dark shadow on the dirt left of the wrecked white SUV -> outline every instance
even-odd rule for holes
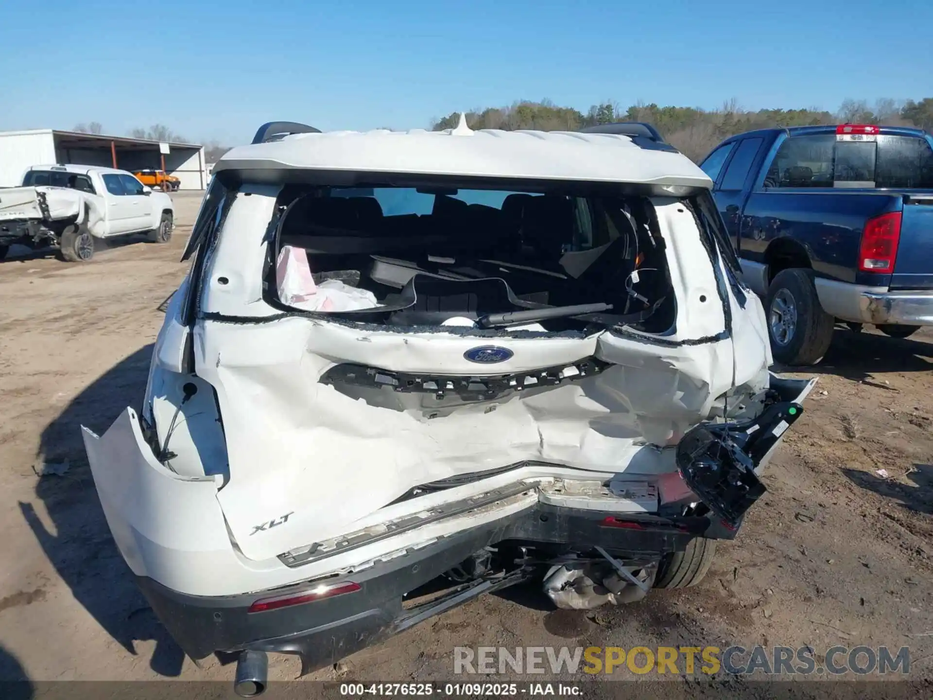
[[[35,495],[49,513],[49,529],[31,503],[20,508],[49,561],[78,603],[127,651],[135,640],[155,640],[150,667],[178,676],[184,653],[139,593],[129,567],[110,535],[94,490],[80,427],[102,434],[126,406],[138,408],[146,391],[152,344],[140,348],[97,378],[43,430],[39,457],[69,469],[39,478]]]

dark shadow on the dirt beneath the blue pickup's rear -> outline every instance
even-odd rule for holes
[[[813,374],[836,374],[853,382],[862,382],[895,391],[873,377],[881,372],[933,370],[933,343],[900,340],[886,335],[848,329],[836,329],[826,357],[813,367],[783,366],[782,371]]]

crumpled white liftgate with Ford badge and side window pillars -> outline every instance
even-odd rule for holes
[[[249,196],[246,196],[246,193]],[[205,315],[269,316],[261,296],[258,225],[274,189],[246,188],[231,205],[220,244],[205,265]],[[654,201],[675,285],[676,333],[634,331],[584,338],[490,336],[441,330],[398,332],[361,324],[286,317],[267,323],[196,324],[195,366],[216,389],[230,459],[218,499],[245,556],[264,559],[346,532],[360,518],[411,488],[524,461],[607,474],[675,469],[675,442],[709,417],[717,398],[767,385],[770,356],[760,302],[717,288],[696,224],[675,200]],[[237,215],[237,216],[234,216]],[[675,235],[676,231],[676,235]],[[215,280],[226,278],[227,284]],[[725,333],[725,295],[733,322]],[[747,336],[747,337],[746,337]],[[721,340],[717,340],[721,338]],[[694,343],[703,340],[702,343]],[[481,368],[466,351],[493,343],[512,356]],[[745,349],[736,357],[734,347]],[[502,400],[466,404],[432,417],[429,395],[391,389],[364,398],[319,382],[338,362],[388,371],[508,374],[596,357],[598,376]],[[414,398],[413,398],[414,397]],[[403,399],[408,399],[403,400]],[[326,507],[322,507],[327,504]],[[292,513],[285,525],[254,532]]]

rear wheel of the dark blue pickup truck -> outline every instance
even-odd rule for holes
[[[835,319],[823,311],[810,270],[782,270],[765,300],[771,350],[784,365],[815,365],[826,355]]]

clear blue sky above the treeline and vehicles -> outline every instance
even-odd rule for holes
[[[248,141],[517,99],[714,108],[933,96],[933,2],[0,0],[0,130]]]

